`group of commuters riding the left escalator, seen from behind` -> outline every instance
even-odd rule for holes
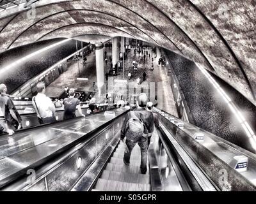
[[[68,94],[64,99],[55,98],[52,101],[51,98],[45,95],[44,82],[38,82],[36,84],[37,94],[32,98],[32,105],[40,124],[56,122],[56,108],[63,107],[64,120],[76,118],[76,110],[79,116],[85,116],[82,112],[79,98],[75,98],[75,89],[65,87],[65,91]],[[0,120],[0,134],[8,133],[8,135],[13,135],[17,129],[22,128],[22,119],[11,96],[6,94],[6,92],[6,85],[0,84],[0,115],[4,117],[4,120]],[[88,103],[87,114],[99,111],[99,107],[95,104],[95,98],[91,98]]]

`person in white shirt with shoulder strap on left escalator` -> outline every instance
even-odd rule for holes
[[[44,82],[36,84],[36,91],[38,94],[33,97],[32,103],[40,124],[55,122],[55,106],[52,100],[45,96]]]

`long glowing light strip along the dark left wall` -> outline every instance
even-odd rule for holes
[[[18,59],[17,61],[13,62],[12,64],[9,64],[8,66],[2,68],[2,69],[0,70],[0,74],[2,74],[4,71],[7,71],[7,70],[10,69],[10,68],[13,68],[13,66],[17,66],[17,65],[19,65],[20,63],[22,63],[22,62],[24,62],[24,61],[26,61],[26,60],[28,60],[28,59],[34,57],[35,55],[38,55],[38,54],[40,54],[40,53],[42,53],[42,52],[44,52],[44,51],[46,51],[46,50],[49,50],[49,49],[51,49],[51,48],[53,48],[53,47],[56,47],[56,46],[58,46],[58,45],[61,45],[62,43],[65,43],[65,42],[70,41],[70,40],[71,40],[71,38],[68,38],[68,39],[66,39],[66,40],[62,40],[62,41],[60,41],[60,42],[58,42],[58,43],[54,43],[54,44],[49,45],[49,46],[47,46],[47,47],[45,47],[45,48],[42,48],[42,49],[40,49],[40,50],[37,50],[36,52],[33,52],[33,53],[29,54],[29,55],[26,55],[25,57],[22,57],[22,58]]]

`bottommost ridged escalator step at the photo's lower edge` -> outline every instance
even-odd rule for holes
[[[98,190],[98,191],[150,191],[150,184],[134,184],[134,183],[127,183],[127,182],[118,182],[116,180],[99,179],[97,181],[95,190]]]

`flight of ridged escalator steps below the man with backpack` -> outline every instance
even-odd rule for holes
[[[92,191],[150,191],[150,175],[140,172],[140,147],[132,150],[129,166],[123,161],[124,145],[116,148]]]

